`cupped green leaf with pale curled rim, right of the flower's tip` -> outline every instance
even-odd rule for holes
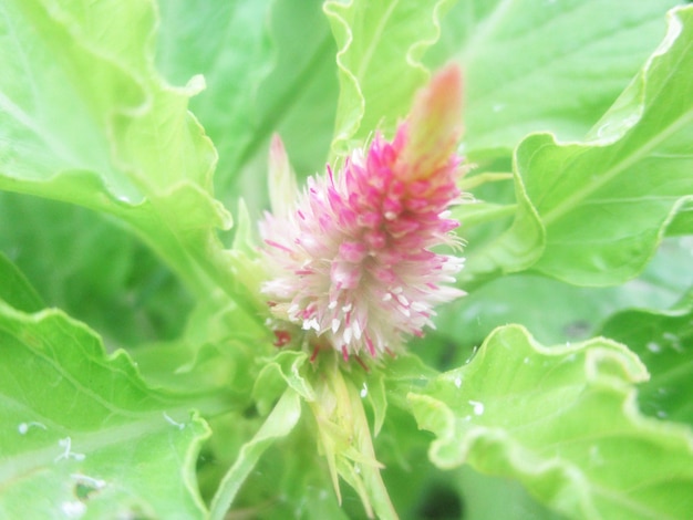
[[[693,198],[693,9],[669,32],[581,144],[526,138],[517,170],[546,227],[537,271],[576,284],[622,283],[642,271],[679,208]]]

